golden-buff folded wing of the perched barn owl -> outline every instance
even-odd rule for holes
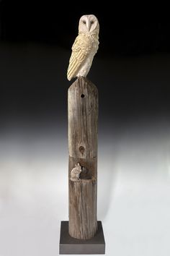
[[[79,67],[86,60],[91,51],[91,40],[85,35],[78,35],[72,46],[72,54],[68,65],[67,77],[70,81],[76,76]]]

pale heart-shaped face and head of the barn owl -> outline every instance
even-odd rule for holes
[[[79,33],[99,34],[99,22],[93,14],[83,15],[79,20]]]

